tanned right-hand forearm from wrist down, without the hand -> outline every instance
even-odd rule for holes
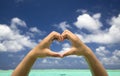
[[[108,76],[105,68],[99,62],[95,54],[91,51],[91,49],[87,48],[87,54],[84,56],[93,76]]]

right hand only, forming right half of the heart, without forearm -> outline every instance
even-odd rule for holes
[[[85,55],[88,51],[88,47],[71,31],[65,30],[62,33],[63,39],[70,40],[72,46],[69,51],[66,51],[62,54],[62,56],[68,56],[68,55]]]

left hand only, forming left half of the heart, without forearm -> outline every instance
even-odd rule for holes
[[[51,32],[47,37],[45,37],[33,50],[32,50],[32,56],[33,57],[61,57],[60,54],[53,52],[50,50],[50,44],[53,40],[61,41],[63,40],[62,36],[53,31]]]

